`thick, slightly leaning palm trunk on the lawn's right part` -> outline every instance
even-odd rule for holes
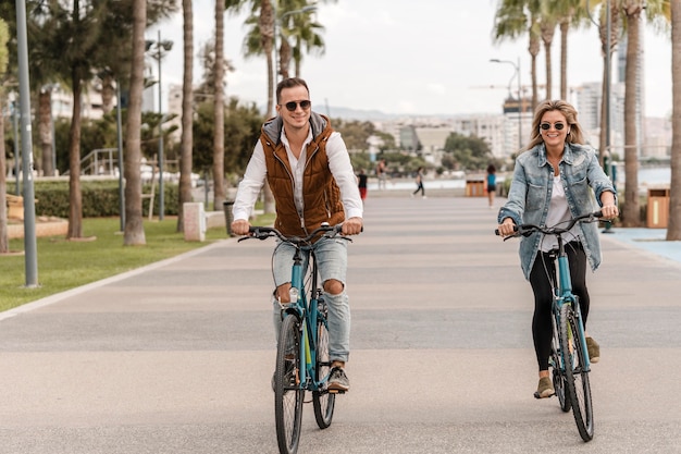
[[[141,212],[141,93],[145,86],[145,26],[147,0],[133,0],[133,59],[129,78],[129,101],[125,133],[125,230],[123,244],[147,244]]]

